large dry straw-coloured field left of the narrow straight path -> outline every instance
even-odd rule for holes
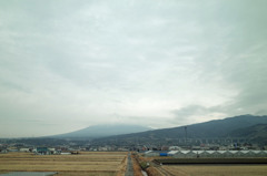
[[[85,152],[79,155],[0,154],[0,173],[58,172],[57,176],[120,176],[125,174],[127,153]]]

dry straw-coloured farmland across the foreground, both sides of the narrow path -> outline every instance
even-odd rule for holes
[[[129,159],[131,156],[131,159]],[[162,159],[162,157],[160,157]],[[157,165],[155,157],[123,152],[85,152],[79,155],[0,154],[0,174],[9,172],[58,172],[57,176],[265,176],[267,165]],[[127,169],[127,162],[128,169]],[[128,172],[126,172],[126,169]],[[130,172],[129,172],[130,170]]]

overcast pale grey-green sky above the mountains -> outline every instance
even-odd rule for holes
[[[267,114],[266,0],[0,0],[0,137]]]

